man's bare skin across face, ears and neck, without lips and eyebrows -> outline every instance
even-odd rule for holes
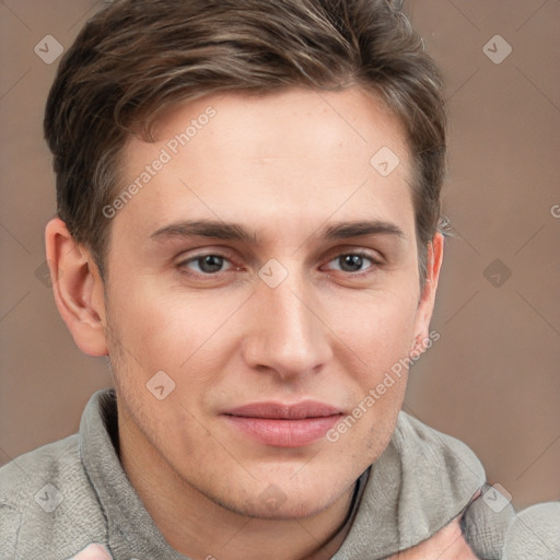
[[[120,459],[171,546],[194,559],[330,558],[355,480],[390,440],[406,373],[337,442],[265,445],[223,412],[314,399],[351,413],[428,338],[443,241],[421,291],[405,136],[357,88],[175,107],[154,143],[130,138],[121,187],[208,106],[215,116],[112,219],[104,281],[63,222],[48,224],[56,301],[77,345],[110,358]],[[387,177],[370,164],[382,147],[400,160]],[[185,220],[258,238],[154,235]],[[399,234],[324,236],[374,221]],[[349,270],[339,256],[357,253]],[[213,273],[194,258],[215,254]],[[288,271],[276,288],[258,276],[272,258]],[[162,370],[175,388],[159,400],[147,383]]]

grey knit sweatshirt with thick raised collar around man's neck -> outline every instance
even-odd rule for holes
[[[116,433],[115,393],[98,392],[79,433],[0,468],[0,560],[68,560],[92,542],[115,560],[188,560],[165,541],[130,485]],[[560,502],[515,513],[485,485],[483,468],[465,444],[405,412],[360,481],[350,532],[332,560],[387,558],[462,513],[479,558],[560,559]]]

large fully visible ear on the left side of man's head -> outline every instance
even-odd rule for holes
[[[107,355],[103,280],[91,254],[66,223],[54,218],[45,231],[55,301],[74,342],[90,355]]]

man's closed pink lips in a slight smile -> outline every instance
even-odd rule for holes
[[[305,400],[255,402],[223,413],[238,432],[273,447],[303,447],[320,440],[343,416],[340,409]]]

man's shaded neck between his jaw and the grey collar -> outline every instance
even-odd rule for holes
[[[350,528],[355,485],[300,518],[256,518],[226,510],[183,480],[119,415],[119,453],[132,487],[165,540],[194,560],[327,560]]]

